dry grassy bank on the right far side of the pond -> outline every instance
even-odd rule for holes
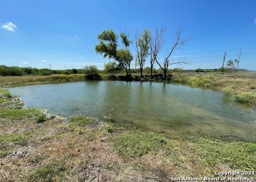
[[[220,90],[235,95],[237,102],[256,105],[256,76],[252,74],[175,73],[173,80]]]

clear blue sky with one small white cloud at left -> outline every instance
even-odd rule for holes
[[[94,51],[104,29],[134,34],[164,26],[166,55],[177,28],[191,38],[172,60],[188,60],[183,69],[219,68],[226,59],[238,59],[240,68],[256,70],[256,1],[0,1],[0,64],[70,69],[108,59]],[[131,46],[135,55],[135,45]],[[134,65],[133,65],[134,67]],[[157,67],[156,67],[157,68]],[[173,68],[173,67],[172,67]]]

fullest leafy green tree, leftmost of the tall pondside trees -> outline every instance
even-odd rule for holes
[[[125,69],[126,75],[131,75],[130,65],[133,56],[129,50],[129,46],[132,42],[124,32],[121,32],[120,37],[125,48],[117,49],[118,35],[113,30],[103,30],[98,35],[99,44],[95,46],[95,51],[103,54],[103,57],[114,59],[119,68]]]

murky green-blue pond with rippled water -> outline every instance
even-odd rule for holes
[[[256,140],[256,109],[228,94],[168,82],[84,81],[10,88],[28,107],[85,114],[175,137]]]

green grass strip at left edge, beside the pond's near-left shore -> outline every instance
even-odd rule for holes
[[[0,118],[3,119],[26,119],[34,117],[38,113],[38,109],[12,109],[10,107],[0,108]]]

